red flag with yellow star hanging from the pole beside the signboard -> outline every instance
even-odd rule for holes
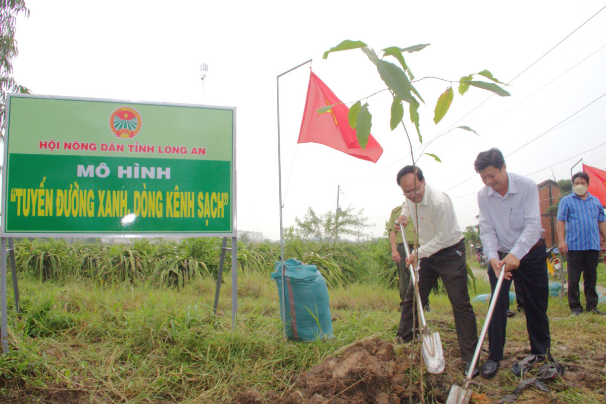
[[[320,114],[317,110],[324,106],[333,105],[330,111]],[[368,144],[362,149],[356,129],[352,129],[347,119],[349,108],[335,96],[330,88],[310,72],[309,86],[305,110],[299,131],[297,143],[320,143],[353,157],[376,163],[383,153],[383,148],[372,135],[368,136]]]

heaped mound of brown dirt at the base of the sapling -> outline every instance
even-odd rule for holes
[[[275,392],[238,394],[233,404],[401,404],[408,402],[408,354],[396,354],[394,345],[379,339],[358,342],[301,374],[297,389],[287,396]],[[439,380],[439,382],[438,382]],[[437,383],[436,383],[437,382]],[[442,375],[425,380],[444,400],[450,385]],[[448,384],[448,385],[447,385]],[[441,385],[436,388],[436,385]],[[415,386],[415,398],[418,386]],[[414,399],[413,399],[414,400]]]

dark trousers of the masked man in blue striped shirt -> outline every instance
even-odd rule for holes
[[[596,282],[598,281],[599,253],[598,250],[568,250],[566,255],[568,262],[568,306],[572,311],[583,311],[579,296],[581,273],[583,274],[587,310],[598,306]]]

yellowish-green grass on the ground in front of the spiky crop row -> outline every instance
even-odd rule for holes
[[[12,350],[0,357],[0,403],[227,403],[247,389],[288,391],[301,371],[340,348],[369,336],[391,340],[398,327],[396,289],[353,283],[330,290],[334,339],[289,342],[282,338],[275,283],[268,273],[244,272],[238,279],[238,322],[231,330],[228,276],[217,316],[211,314],[215,282],[209,278],[180,290],[21,279],[24,313],[18,319],[12,311],[8,319]],[[490,290],[487,282],[476,284],[472,298]],[[432,295],[431,307],[432,331],[453,336],[447,296]],[[487,308],[474,304],[478,329]],[[576,363],[587,358],[590,345],[601,371],[606,320],[591,314],[571,318],[567,302],[558,298],[550,299],[548,314],[554,356]],[[507,332],[505,351],[527,348],[523,316],[510,319]],[[445,351],[453,347],[456,342]],[[553,394],[561,402],[602,402],[604,374],[597,373],[601,384],[594,391],[581,383],[559,385]],[[460,383],[462,376],[456,376]],[[508,372],[499,374],[504,394],[518,382]],[[523,401],[529,394],[536,390],[522,394],[521,402],[531,402]]]

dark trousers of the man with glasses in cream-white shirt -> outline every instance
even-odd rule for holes
[[[421,301],[426,302],[429,292],[438,278],[442,279],[448,299],[453,307],[454,325],[457,341],[461,350],[461,359],[471,360],[478,343],[476,315],[469,302],[467,292],[467,264],[465,262],[465,244],[461,242],[453,247],[440,250],[427,258],[421,259],[419,269],[419,294]],[[405,341],[413,339],[413,299],[415,290],[412,282],[408,285],[406,298],[402,305],[398,334]]]

